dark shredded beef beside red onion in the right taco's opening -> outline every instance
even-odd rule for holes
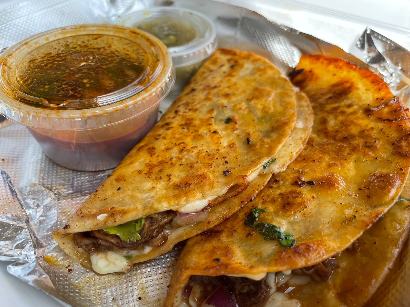
[[[190,282],[203,282],[223,286],[232,294],[239,307],[260,306],[269,294],[265,279],[252,280],[246,277],[192,275]]]

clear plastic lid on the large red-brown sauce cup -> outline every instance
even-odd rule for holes
[[[33,128],[115,124],[153,107],[174,82],[166,46],[116,25],[77,25],[21,41],[0,56],[0,112]]]

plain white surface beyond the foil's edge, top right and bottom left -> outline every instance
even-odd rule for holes
[[[253,9],[267,18],[292,26],[345,50],[369,25],[410,50],[410,1],[408,0],[220,0]],[[0,0],[0,9],[23,1]],[[371,5],[369,5],[371,3]],[[291,11],[291,13],[289,13]],[[321,18],[317,18],[321,14]],[[295,18],[296,17],[296,18]],[[295,22],[295,20],[297,20]],[[331,24],[329,33],[327,25]],[[335,31],[343,28],[344,31]],[[9,262],[0,262],[0,298],[4,307],[61,307],[43,291],[7,272]]]

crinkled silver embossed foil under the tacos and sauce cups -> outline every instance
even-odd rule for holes
[[[132,11],[154,5],[174,5],[209,16],[216,25],[221,47],[265,56],[284,74],[296,65],[301,54],[335,56],[375,71],[395,95],[409,102],[410,53],[371,29],[364,29],[356,48],[347,53],[241,7],[209,0],[175,2],[32,0],[0,11],[0,52],[27,36],[55,27],[115,23]],[[175,95],[166,98],[161,105],[162,111],[168,108]],[[11,124],[2,115],[0,167],[0,234],[3,238],[0,260],[14,262],[8,267],[11,274],[73,307],[162,304],[180,246],[133,266],[128,273],[98,275],[66,257],[51,237],[52,231],[64,225],[112,170],[77,172],[65,169],[42,153],[25,127]],[[401,275],[395,285],[400,289],[408,285],[410,263],[407,254],[404,250],[403,261],[397,264],[401,267]],[[389,306],[393,304],[389,302]]]

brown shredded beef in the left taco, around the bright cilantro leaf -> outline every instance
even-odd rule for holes
[[[157,217],[147,217],[144,226],[139,231],[141,239],[123,241],[118,235],[110,235],[104,230],[91,230],[74,234],[75,244],[84,251],[93,254],[96,251],[122,251],[137,248],[141,244],[150,241],[156,246],[166,242],[168,234],[164,233],[164,226],[171,223],[177,215],[175,211],[168,210],[159,212]]]

